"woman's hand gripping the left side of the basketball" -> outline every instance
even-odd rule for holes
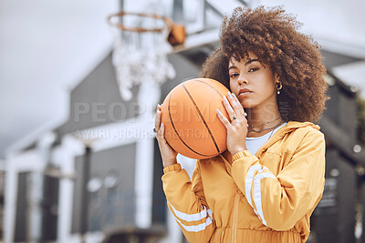
[[[162,106],[157,105],[156,118],[154,128],[156,130],[156,138],[159,143],[162,156],[163,167],[168,167],[177,163],[177,152],[166,142],[164,137],[164,126],[161,122]]]

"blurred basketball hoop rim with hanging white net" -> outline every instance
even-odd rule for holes
[[[170,18],[120,12],[110,15],[108,23],[114,35],[112,63],[124,100],[131,99],[133,85],[151,82],[161,86],[175,76],[167,59],[167,54],[172,51],[167,41],[173,24]]]

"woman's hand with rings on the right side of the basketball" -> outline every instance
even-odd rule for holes
[[[232,155],[235,155],[235,153],[247,149],[245,147],[247,120],[245,118],[245,109],[235,94],[228,92],[227,97],[224,96],[223,103],[230,121],[219,109],[217,109],[217,114],[224,124],[224,127],[227,129],[227,149]]]

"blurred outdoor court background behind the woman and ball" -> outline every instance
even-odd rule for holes
[[[0,1],[0,241],[186,242],[162,192],[154,111],[198,76],[239,5],[284,5],[318,41],[331,99],[308,242],[365,242],[363,0]],[[176,25],[107,21],[120,11]],[[193,172],[193,159],[178,161]]]

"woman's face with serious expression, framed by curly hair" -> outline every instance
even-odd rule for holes
[[[276,105],[276,79],[267,65],[260,63],[258,57],[247,52],[249,59],[234,58],[229,62],[229,79],[231,91],[245,108]],[[278,81],[278,80],[277,80]]]

